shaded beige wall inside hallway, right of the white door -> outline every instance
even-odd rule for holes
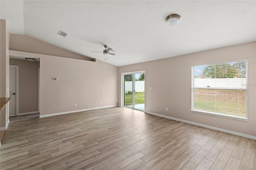
[[[10,59],[10,65],[19,66],[18,113],[38,111],[38,68],[40,62]]]

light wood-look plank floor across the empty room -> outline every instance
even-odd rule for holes
[[[124,107],[10,119],[0,169],[250,170],[256,141]]]

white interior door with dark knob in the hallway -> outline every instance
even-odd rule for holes
[[[16,89],[16,80],[17,80],[17,67],[10,66],[10,84],[9,84],[9,93],[10,93],[10,102],[9,102],[9,116],[16,116],[16,94],[17,94],[17,89]]]

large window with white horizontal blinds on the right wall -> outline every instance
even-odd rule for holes
[[[247,61],[192,66],[192,111],[247,120]]]

